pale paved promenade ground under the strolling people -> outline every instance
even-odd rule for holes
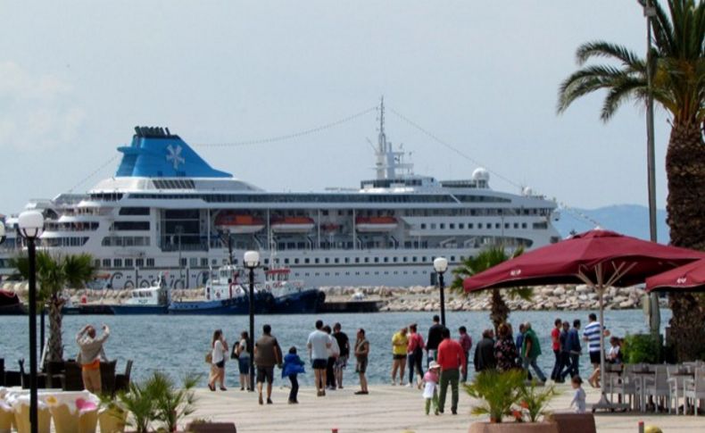
[[[284,383],[278,379],[277,385]],[[288,383],[288,381],[286,382]],[[369,396],[354,396],[358,388],[352,382],[342,390],[328,391],[325,397],[316,397],[311,387],[299,391],[300,404],[287,404],[288,388],[275,387],[272,393],[274,404],[257,404],[256,394],[232,387],[226,392],[211,393],[208,389],[197,391],[197,411],[189,419],[209,421],[234,421],[237,431],[249,432],[307,432],[339,433],[352,432],[415,432],[442,433],[465,432],[473,421],[482,417],[469,414],[473,400],[460,390],[458,415],[450,412],[450,395],[445,413],[440,416],[426,415],[423,398],[416,388],[370,386]],[[572,389],[567,385],[557,388],[560,396],[552,400],[555,412],[569,412]],[[598,392],[585,388],[587,402],[596,402]],[[599,432],[636,432],[638,421],[659,426],[664,433],[705,431],[705,417],[654,415],[635,412],[598,413],[595,416]]]

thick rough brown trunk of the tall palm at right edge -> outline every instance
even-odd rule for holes
[[[666,171],[671,244],[705,250],[705,145],[698,123],[676,121]],[[668,304],[678,360],[693,361],[705,354],[705,297],[674,293],[668,296]]]

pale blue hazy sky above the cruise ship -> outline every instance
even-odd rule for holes
[[[387,137],[417,174],[469,179],[483,166],[502,191],[646,204],[643,106],[603,123],[595,94],[556,113],[577,46],[604,39],[641,55],[645,27],[627,0],[3,0],[0,213],[112,176],[136,125],[193,146],[242,143],[346,119],[380,96]],[[657,110],[659,208],[668,133]],[[195,150],[268,190],[322,191],[373,177],[368,140],[375,111],[294,139]]]

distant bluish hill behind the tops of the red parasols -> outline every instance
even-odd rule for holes
[[[638,204],[615,204],[598,209],[575,209],[575,212],[560,211],[560,221],[553,225],[560,232],[560,236],[567,237],[570,230],[582,233],[593,229],[593,224],[576,215],[582,213],[597,221],[602,229],[610,229],[619,233],[649,239],[649,208]],[[668,225],[666,225],[666,211],[659,209],[656,212],[656,233],[659,243],[668,244]]]

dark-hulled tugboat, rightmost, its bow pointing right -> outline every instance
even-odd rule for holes
[[[264,271],[264,290],[274,296],[271,312],[275,314],[306,314],[319,312],[326,302],[326,294],[315,287],[304,287],[301,280],[290,280],[289,268],[270,268]]]

